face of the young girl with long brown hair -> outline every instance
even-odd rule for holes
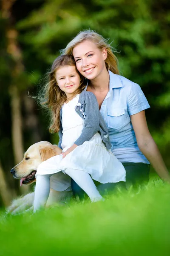
[[[55,72],[59,88],[65,92],[67,98],[74,95],[80,84],[80,77],[75,66],[63,66]]]

